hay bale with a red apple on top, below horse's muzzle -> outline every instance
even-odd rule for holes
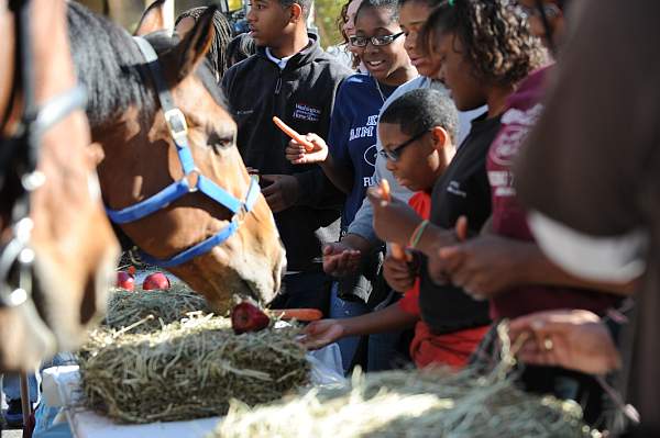
[[[308,382],[298,334],[237,336],[229,319],[201,313],[154,333],[101,328],[78,353],[85,403],[119,423],[152,423],[222,415],[231,398],[271,402]]]

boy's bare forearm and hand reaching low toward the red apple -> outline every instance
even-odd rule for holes
[[[321,319],[310,323],[301,342],[311,350],[322,348],[346,336],[372,335],[400,330],[415,325],[418,317],[404,312],[397,303],[381,311],[344,319]]]

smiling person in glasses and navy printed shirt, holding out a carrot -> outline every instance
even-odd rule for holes
[[[350,44],[360,50],[369,74],[353,75],[340,87],[327,143],[321,136],[309,133],[306,139],[315,145],[311,153],[295,141],[286,149],[286,157],[294,165],[318,162],[334,186],[346,194],[342,234],[362,205],[366,189],[373,183],[380,110],[398,86],[417,77],[417,70],[404,47],[398,0],[362,1],[355,14],[354,32],[350,36]],[[331,316],[350,316],[370,311],[363,302],[372,293],[376,268],[374,262],[355,276],[340,278],[332,293]],[[385,358],[389,356],[387,351],[393,350],[388,344],[395,344],[396,338],[398,336],[393,334],[393,341],[384,342],[377,353],[373,349],[374,339],[370,346],[369,370],[388,368]],[[355,338],[340,342],[345,367],[352,362],[356,347]]]

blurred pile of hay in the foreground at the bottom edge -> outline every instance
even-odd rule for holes
[[[251,408],[233,401],[215,437],[598,437],[574,402],[517,390],[505,359],[487,375],[474,370],[353,374],[339,389],[311,389]]]

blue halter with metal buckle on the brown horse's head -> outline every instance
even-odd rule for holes
[[[224,243],[230,238],[239,228],[239,225],[243,216],[252,210],[254,202],[256,201],[257,194],[260,193],[258,183],[255,178],[251,179],[245,201],[241,202],[234,198],[231,193],[227,192],[220,186],[216,184],[210,179],[206,178],[200,173],[199,169],[195,166],[193,153],[188,146],[188,126],[186,124],[186,117],[184,113],[176,108],[174,100],[167,83],[164,80],[164,76],[158,64],[158,56],[151,46],[151,44],[143,37],[135,36],[135,42],[142,52],[146,65],[152,72],[152,78],[156,86],[156,92],[161,102],[161,108],[165,113],[165,121],[169,128],[169,134],[174,138],[176,145],[176,153],[184,170],[184,177],[174,181],[158,193],[154,194],[141,201],[134,205],[127,206],[121,210],[111,210],[106,207],[108,217],[116,224],[127,224],[130,222],[139,221],[158,210],[167,207],[172,202],[178,200],[187,193],[199,191],[206,194],[208,198],[218,202],[232,212],[232,217],[226,227],[223,227],[218,234],[209,237],[208,239],[177,254],[168,259],[156,259],[144,251],[140,251],[142,260],[150,265],[155,265],[162,268],[170,268],[177,265],[185,263],[190,259],[206,254],[217,245]],[[197,177],[197,182],[191,186],[191,180]]]

